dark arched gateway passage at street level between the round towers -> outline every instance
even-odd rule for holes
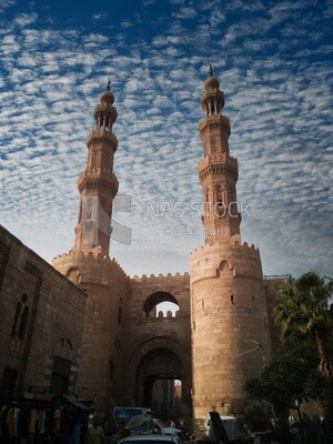
[[[151,350],[138,367],[138,397],[161,420],[186,416],[182,379],[183,366],[175,353],[164,347]]]

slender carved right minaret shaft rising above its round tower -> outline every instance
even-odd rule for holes
[[[205,119],[200,123],[204,159],[199,163],[199,178],[204,191],[203,225],[208,243],[222,239],[240,240],[241,214],[238,212],[235,183],[238,161],[229,154],[229,119],[222,115],[224,94],[211,75],[204,83],[201,104]]]

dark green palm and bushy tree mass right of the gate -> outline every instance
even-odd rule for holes
[[[287,415],[295,400],[321,400],[326,434],[333,442],[333,281],[314,272],[289,279],[274,309],[281,329],[279,359],[244,385],[251,398],[274,405],[283,442],[289,442]],[[280,424],[280,425],[279,425]]]

